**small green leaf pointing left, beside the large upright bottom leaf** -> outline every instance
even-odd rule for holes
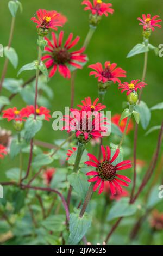
[[[41,225],[49,231],[62,232],[66,228],[65,215],[52,215],[41,221]]]

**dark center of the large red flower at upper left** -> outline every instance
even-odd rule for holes
[[[57,64],[65,64],[70,61],[70,53],[65,48],[57,48],[52,53],[53,59]]]

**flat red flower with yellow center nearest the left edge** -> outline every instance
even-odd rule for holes
[[[9,108],[7,110],[2,111],[3,118],[7,118],[8,121],[15,120],[15,121],[26,121],[24,117],[28,117],[28,111],[26,108],[22,108],[20,111],[17,110],[16,107],[14,108]]]

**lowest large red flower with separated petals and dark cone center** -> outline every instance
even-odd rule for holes
[[[85,164],[87,164],[88,166],[96,167],[96,171],[91,171],[86,174],[87,176],[95,175],[95,177],[89,179],[88,181],[89,182],[96,181],[96,184],[93,187],[93,191],[96,191],[99,185],[101,184],[98,194],[101,194],[103,192],[105,181],[109,182],[110,191],[112,195],[116,194],[116,191],[118,191],[119,193],[122,193],[122,188],[120,185],[127,187],[129,186],[129,184],[127,184],[124,181],[131,182],[131,180],[126,176],[117,174],[117,172],[119,170],[131,168],[131,161],[130,160],[122,161],[116,164],[116,166],[114,166],[114,164],[112,163],[115,161],[118,154],[120,153],[120,149],[117,149],[114,156],[112,157],[111,157],[111,150],[108,146],[106,146],[106,150],[103,146],[101,146],[101,150],[103,154],[103,161],[101,162],[97,160],[96,156],[90,153],[87,154],[90,158],[90,161],[85,162]],[[122,181],[121,179],[123,179],[124,181]]]

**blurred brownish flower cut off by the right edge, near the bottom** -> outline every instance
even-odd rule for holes
[[[154,210],[149,222],[151,227],[155,230],[163,230],[163,213],[158,210]]]

